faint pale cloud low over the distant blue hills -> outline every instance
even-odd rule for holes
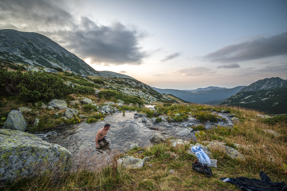
[[[185,67],[185,68],[179,68],[177,70],[174,70],[171,72],[171,74],[177,74],[181,76],[206,76],[206,75],[213,75],[216,71],[212,71],[210,68],[206,67]]]

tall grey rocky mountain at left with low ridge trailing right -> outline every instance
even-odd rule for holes
[[[13,61],[16,64],[60,67],[63,70],[88,76],[132,78],[115,72],[96,71],[50,38],[36,32],[0,30],[0,59]]]

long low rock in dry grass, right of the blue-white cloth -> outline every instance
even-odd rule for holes
[[[239,153],[237,150],[234,148],[231,148],[229,146],[225,146],[224,144],[220,144],[218,142],[211,142],[207,145],[207,148],[212,149],[212,150],[218,150],[226,155],[228,155],[232,159],[241,159],[243,160],[245,157]]]

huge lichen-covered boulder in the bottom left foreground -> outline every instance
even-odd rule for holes
[[[64,147],[16,130],[0,129],[0,180],[69,171],[72,154]]]

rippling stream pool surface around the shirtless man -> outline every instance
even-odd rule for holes
[[[67,148],[74,156],[83,155],[83,152],[86,153],[84,155],[91,156],[103,153],[106,155],[109,151],[122,152],[128,150],[133,143],[142,147],[147,146],[154,132],[144,127],[140,118],[134,119],[134,113],[126,112],[125,115],[114,113],[106,116],[104,121],[90,124],[83,122],[50,132],[38,132],[36,135],[45,141]],[[106,123],[111,125],[106,137],[110,144],[102,149],[96,149],[96,133]]]

